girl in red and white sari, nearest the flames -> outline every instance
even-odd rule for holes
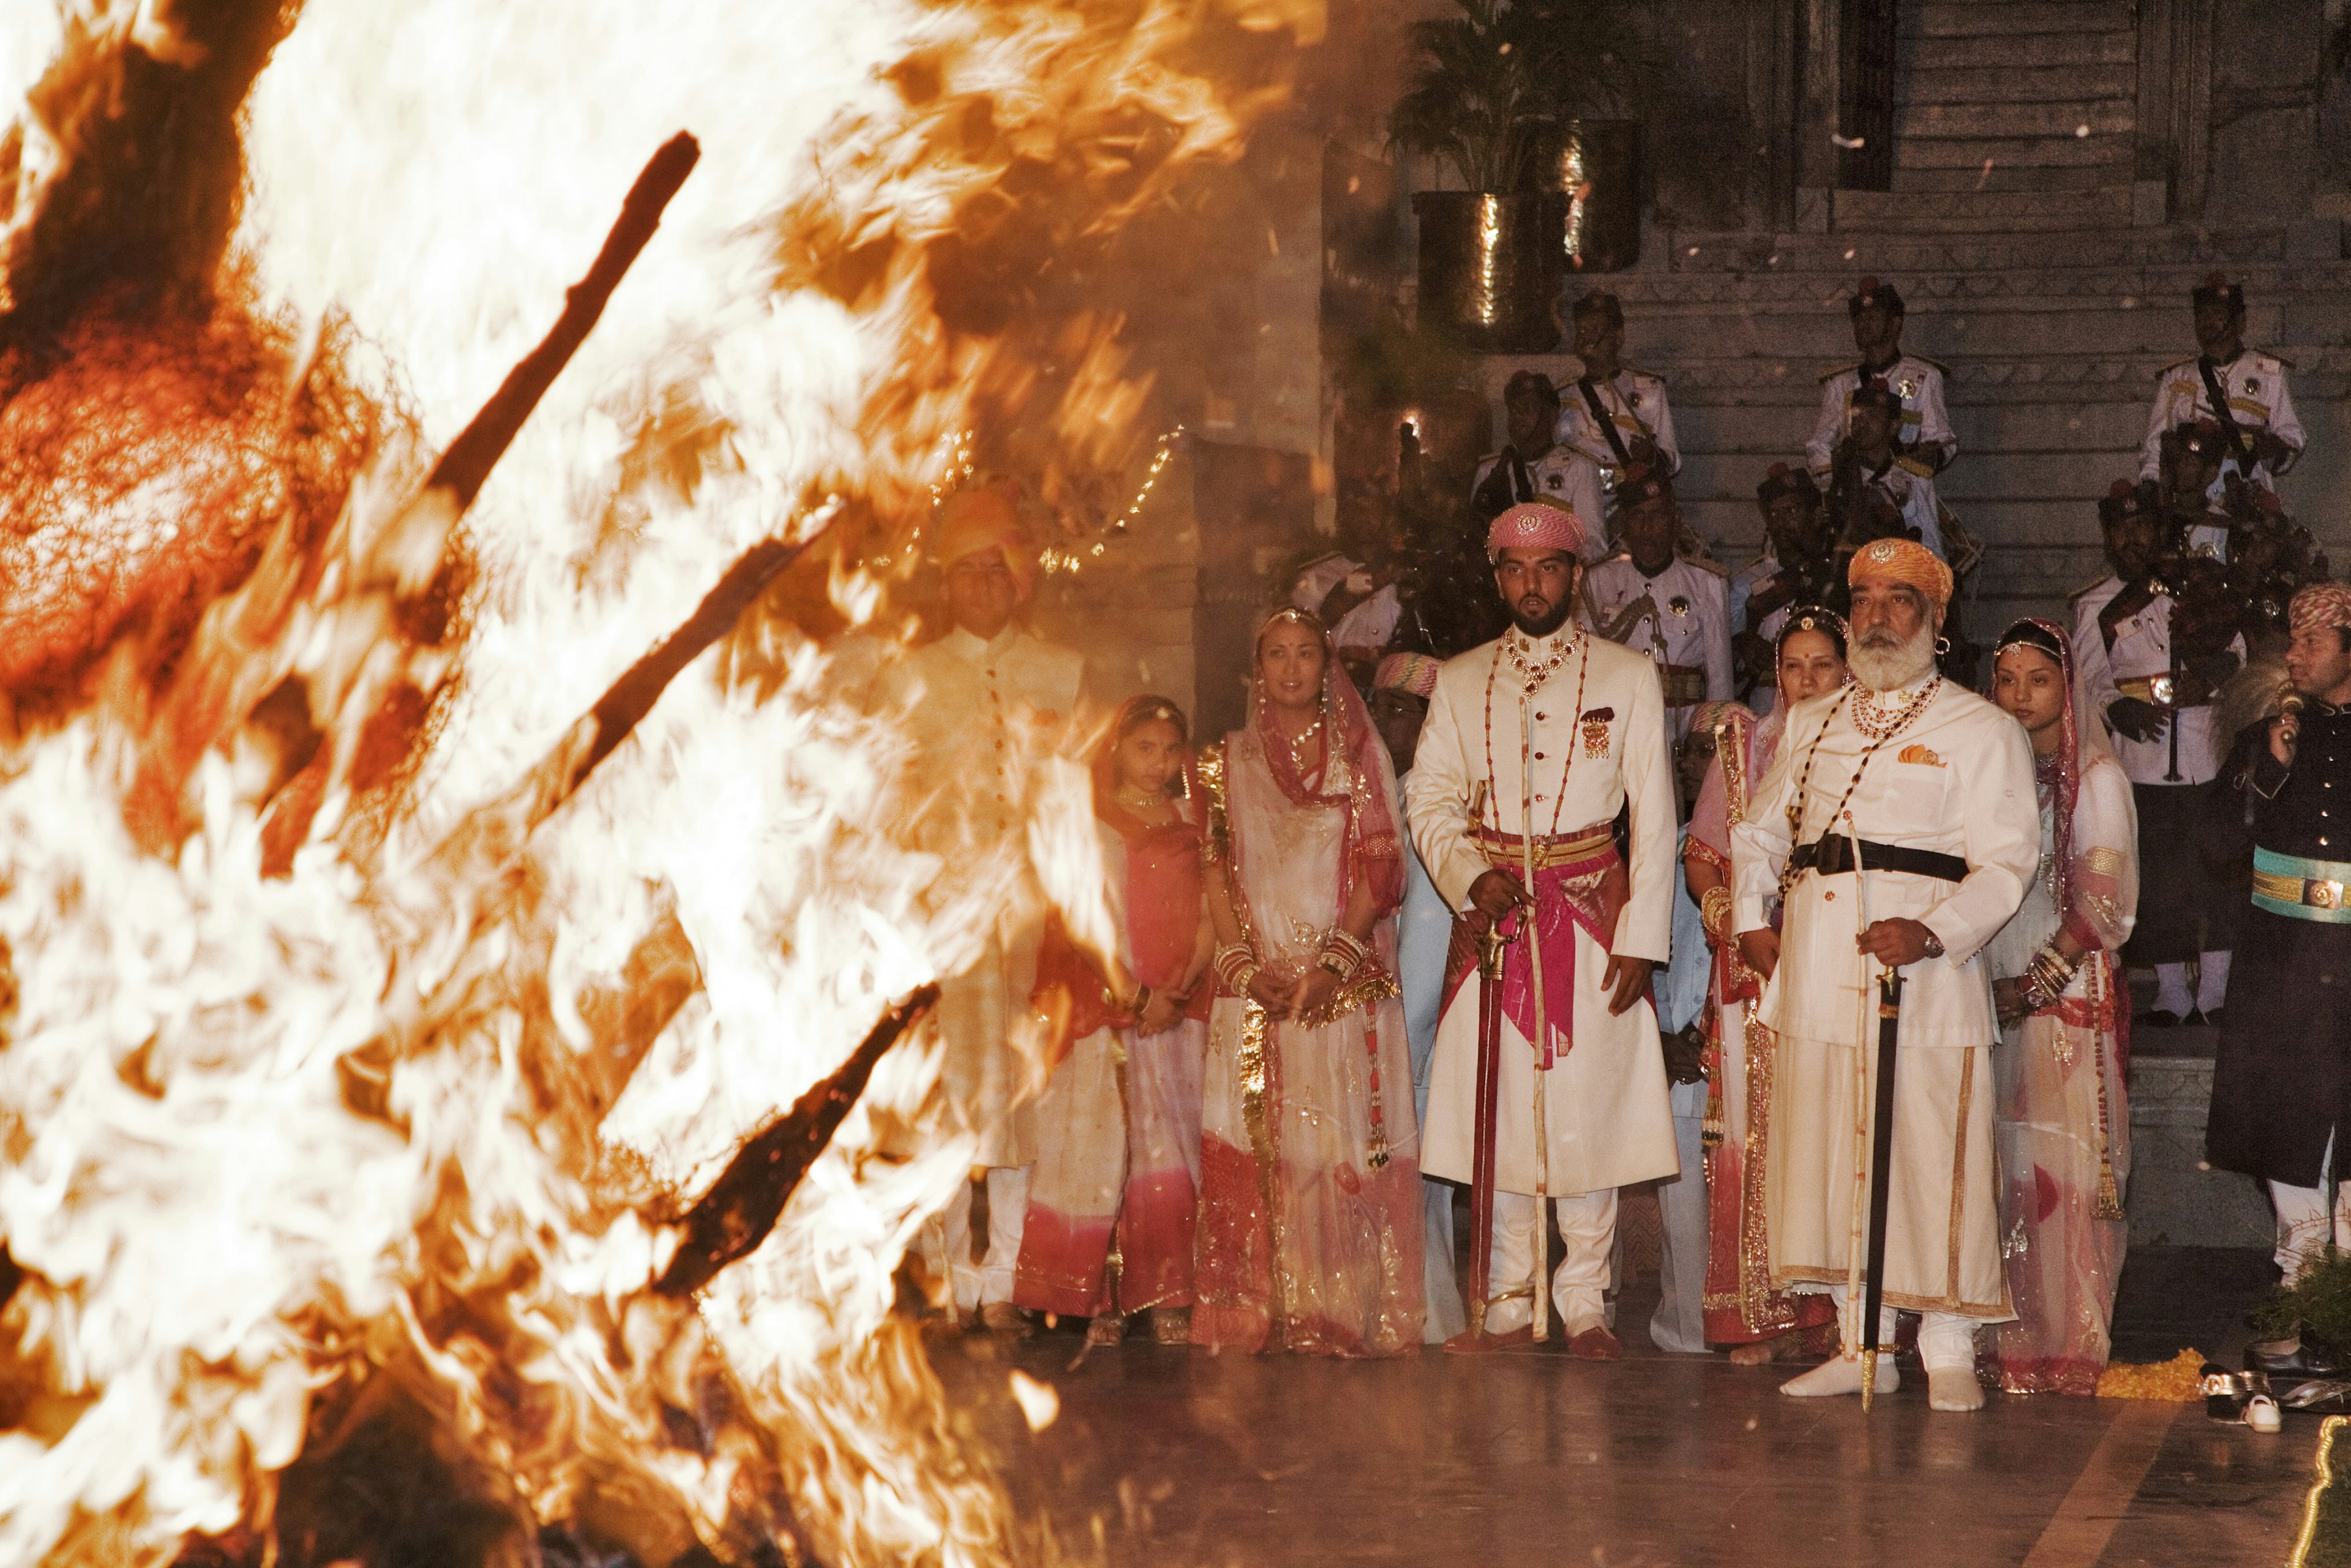
[[[1126,1314],[1183,1345],[1192,1307],[1199,1187],[1199,1074],[1206,1048],[1211,929],[1201,903],[1201,816],[1187,726],[1164,696],[1119,708],[1093,766],[1119,952],[1065,938],[1039,959],[1039,994],[1067,1009],[1037,1105],[1039,1152],[1013,1305],[1091,1319],[1089,1345],[1117,1345]]]

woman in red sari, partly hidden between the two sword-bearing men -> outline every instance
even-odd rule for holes
[[[1796,607],[1780,625],[1773,654],[1777,701],[1768,719],[1737,703],[1714,703],[1690,724],[1695,733],[1697,719],[1704,719],[1714,731],[1714,764],[1697,792],[1681,856],[1707,945],[1714,947],[1707,999],[1707,1345],[1730,1345],[1730,1359],[1742,1366],[1799,1349],[1801,1331],[1829,1326],[1834,1345],[1836,1324],[1827,1295],[1770,1288],[1763,1152],[1770,1140],[1773,1039],[1754,1018],[1761,980],[1740,959],[1740,945],[1723,940],[1723,924],[1730,917],[1730,827],[1747,816],[1749,792],[1780,755],[1787,710],[1846,684],[1846,623],[1834,611]]]

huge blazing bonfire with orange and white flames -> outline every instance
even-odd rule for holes
[[[858,1041],[980,922],[889,837],[820,632],[959,433],[1060,508],[1136,468],[1117,320],[1011,284],[1232,158],[1262,94],[1204,38],[1312,0],[245,7],[193,296],[35,282],[108,115],[219,45],[5,9],[0,1561],[1049,1554],[891,1312],[969,1143],[922,1034]],[[602,320],[451,477],[682,129]],[[682,1218],[844,1063],[717,1267],[757,1225]]]

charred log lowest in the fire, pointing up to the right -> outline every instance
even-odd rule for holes
[[[922,985],[849,1053],[839,1072],[813,1086],[783,1117],[745,1143],[684,1220],[686,1241],[654,1291],[694,1295],[719,1269],[748,1255],[776,1229],[785,1199],[832,1143],[849,1107],[865,1093],[875,1063],[938,1004],[938,985]]]

